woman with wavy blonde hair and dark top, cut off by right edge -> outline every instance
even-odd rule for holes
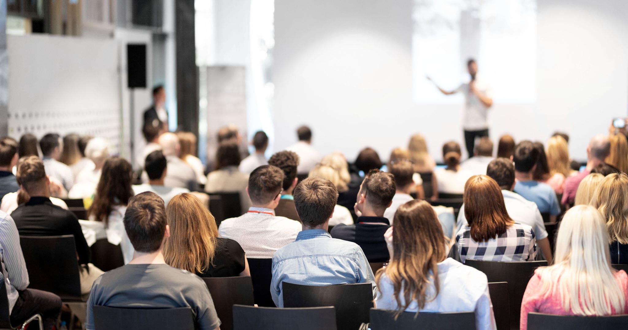
[[[590,205],[602,213],[610,237],[612,263],[628,263],[628,175],[613,173],[595,189]]]

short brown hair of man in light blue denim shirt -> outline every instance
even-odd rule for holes
[[[294,192],[296,213],[305,225],[315,227],[331,218],[338,201],[332,181],[315,176],[299,183]]]

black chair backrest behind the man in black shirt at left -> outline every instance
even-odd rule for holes
[[[29,287],[57,294],[63,300],[81,299],[74,235],[20,236]]]

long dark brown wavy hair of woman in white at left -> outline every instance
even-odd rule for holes
[[[94,203],[87,210],[87,216],[93,215],[94,220],[102,221],[107,227],[107,219],[113,206],[127,205],[133,197],[132,177],[133,168],[126,159],[121,157],[107,159],[102,166]]]

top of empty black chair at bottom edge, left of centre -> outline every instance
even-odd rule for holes
[[[268,329],[336,330],[335,308],[273,308],[234,305],[234,330]]]

